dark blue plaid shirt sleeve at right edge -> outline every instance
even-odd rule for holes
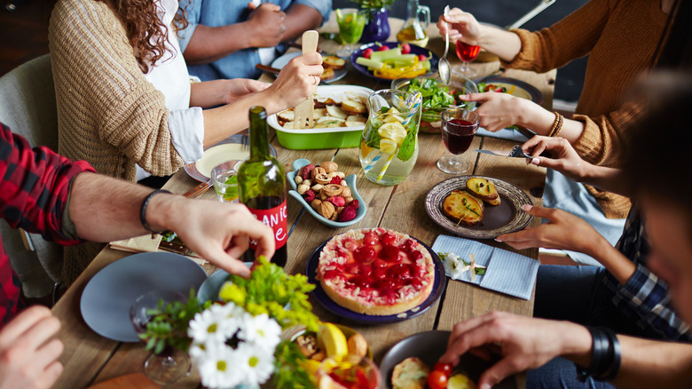
[[[646,268],[649,243],[644,224],[635,207],[627,215],[625,230],[615,247],[632,260],[637,269],[625,285],[617,282],[612,274],[604,272],[606,276],[603,282],[613,304],[652,337],[692,340],[688,324],[675,314],[671,306],[668,285]]]

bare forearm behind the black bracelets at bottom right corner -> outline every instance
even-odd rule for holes
[[[621,388],[689,388],[692,345],[618,336],[622,363],[613,385]]]

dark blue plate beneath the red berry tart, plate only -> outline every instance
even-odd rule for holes
[[[430,252],[430,255],[433,258],[433,264],[435,264],[435,281],[433,282],[433,290],[430,292],[430,296],[423,301],[420,306],[416,306],[402,314],[389,314],[386,316],[358,314],[357,312],[344,308],[343,306],[334,303],[334,300],[326,295],[325,290],[322,289],[322,286],[316,279],[317,268],[319,265],[319,253],[322,252],[326,242],[329,242],[330,239],[332,238],[327,239],[325,242],[319,245],[317,250],[312,252],[310,259],[308,259],[308,266],[305,270],[305,274],[308,276],[308,281],[316,286],[315,290],[312,290],[311,292],[312,296],[317,298],[318,303],[324,306],[326,310],[332,314],[359,324],[386,324],[391,322],[402,322],[427,311],[430,306],[435,304],[437,299],[440,298],[444,292],[444,287],[446,286],[446,275],[444,274],[444,266],[442,265],[442,261],[427,244],[416,239],[416,241],[421,243],[423,247]]]

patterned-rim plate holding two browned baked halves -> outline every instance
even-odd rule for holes
[[[531,198],[515,185],[487,176],[459,176],[432,187],[425,210],[438,226],[467,238],[495,239],[531,222]]]

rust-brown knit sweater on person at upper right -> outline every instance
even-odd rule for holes
[[[584,89],[572,119],[584,132],[574,147],[586,161],[617,166],[622,135],[642,113],[626,93],[657,52],[667,16],[658,0],[591,0],[550,28],[515,30],[522,52],[506,67],[547,72],[589,55]],[[608,218],[625,218],[629,199],[587,187]]]

